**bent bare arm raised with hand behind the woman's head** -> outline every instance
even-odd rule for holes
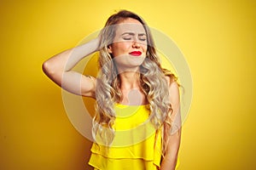
[[[96,38],[79,47],[67,49],[46,60],[43,71],[53,82],[68,92],[94,98],[96,79],[86,77],[72,69],[85,56],[96,52],[98,46],[99,39]]]

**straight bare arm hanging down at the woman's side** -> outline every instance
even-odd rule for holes
[[[172,133],[167,143],[166,156],[160,165],[160,170],[174,170],[177,164],[177,154],[181,140],[181,115],[179,91],[177,82],[172,82],[169,87],[170,100],[172,104]]]

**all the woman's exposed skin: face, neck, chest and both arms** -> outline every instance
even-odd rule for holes
[[[113,55],[119,71],[120,88],[124,96],[121,103],[124,105],[146,105],[146,96],[142,93],[138,79],[139,65],[143,63],[147,52],[145,31],[138,20],[131,18],[122,20],[119,24],[124,25],[118,27],[113,43],[108,47],[108,53]],[[72,69],[84,56],[96,52],[98,47],[99,39],[96,38],[79,47],[67,49],[46,60],[43,64],[43,71],[53,82],[68,92],[95,99],[96,78],[86,77]],[[131,56],[132,51],[140,51],[142,54],[139,57]],[[180,113],[177,82],[170,82],[169,77],[166,77],[166,80],[169,82],[169,99],[173,110],[171,117],[178,124],[180,123]],[[169,141],[172,142],[167,144],[166,156],[160,165],[161,170],[175,169],[180,138],[181,128],[170,135]]]

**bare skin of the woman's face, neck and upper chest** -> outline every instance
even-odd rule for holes
[[[145,105],[146,96],[140,88],[139,66],[143,64],[147,52],[146,32],[143,25],[134,19],[123,20],[118,26],[113,43],[108,47],[108,52],[113,54],[117,64],[121,91],[124,105]],[[140,56],[132,56],[132,51],[140,51]],[[136,78],[135,78],[136,77]],[[132,93],[131,93],[132,92]]]

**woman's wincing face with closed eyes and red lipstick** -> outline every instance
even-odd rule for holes
[[[135,19],[125,19],[117,25],[108,52],[119,71],[134,70],[143,64],[147,52],[147,35],[143,25]]]

